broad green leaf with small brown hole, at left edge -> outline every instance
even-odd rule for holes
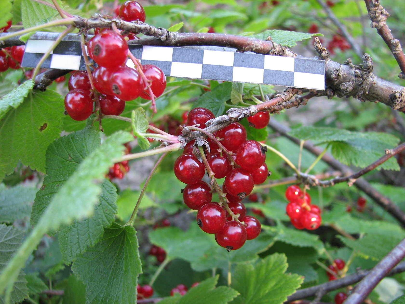
[[[31,91],[17,109],[0,120],[0,180],[13,172],[18,161],[45,171],[48,145],[60,136],[64,102],[60,94]]]

